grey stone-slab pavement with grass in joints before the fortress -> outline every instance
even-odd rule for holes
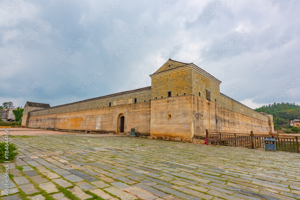
[[[300,199],[299,154],[78,134],[10,141],[20,154],[6,200]]]

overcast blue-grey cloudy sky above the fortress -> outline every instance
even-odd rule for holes
[[[297,0],[2,0],[0,8],[0,104],[57,106],[150,86],[172,58],[193,62],[250,108],[300,105]]]

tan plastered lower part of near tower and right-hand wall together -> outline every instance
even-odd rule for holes
[[[171,118],[168,116],[171,115]],[[184,126],[188,127],[184,127]],[[189,141],[209,132],[268,134],[268,118],[256,119],[223,109],[220,104],[188,95],[151,101],[150,135]]]

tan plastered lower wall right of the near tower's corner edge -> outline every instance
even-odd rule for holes
[[[257,119],[238,112],[224,109],[200,97],[193,98],[194,135],[205,137],[205,130],[222,133],[268,134],[268,117]]]

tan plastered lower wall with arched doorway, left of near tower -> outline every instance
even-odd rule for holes
[[[136,133],[150,134],[150,102],[55,114],[51,109],[33,112],[28,127],[116,133],[121,114],[125,117],[125,133],[135,128]]]

